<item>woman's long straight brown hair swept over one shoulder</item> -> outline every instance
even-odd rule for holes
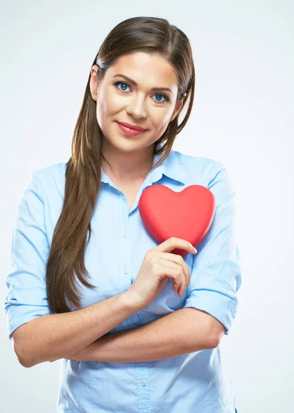
[[[154,155],[162,153],[162,156],[149,170],[152,171],[169,156],[176,135],[189,119],[193,106],[195,70],[191,45],[185,33],[167,20],[157,17],[132,17],[116,25],[103,41],[91,69],[98,65],[97,78],[101,80],[107,68],[119,56],[136,52],[162,56],[174,67],[178,73],[176,103],[187,93],[180,112],[154,144]],[[87,288],[96,288],[86,280],[89,273],[85,268],[84,254],[91,237],[90,219],[101,185],[101,160],[107,160],[101,153],[103,134],[96,118],[96,101],[90,92],[90,78],[91,71],[74,128],[72,156],[66,164],[63,209],[54,229],[46,264],[48,305],[54,313],[70,311],[65,296],[72,306],[79,308],[81,295],[78,293],[76,276]],[[178,118],[188,100],[187,113],[178,125]]]

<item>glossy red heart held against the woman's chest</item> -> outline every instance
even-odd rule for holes
[[[178,237],[197,247],[212,224],[216,200],[202,185],[190,185],[180,192],[165,185],[151,185],[140,196],[138,209],[145,228],[159,244]],[[171,252],[187,254],[180,248]]]

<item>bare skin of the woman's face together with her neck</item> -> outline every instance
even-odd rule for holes
[[[98,124],[103,131],[101,153],[111,164],[102,162],[102,166],[112,180],[123,185],[141,176],[142,169],[149,170],[154,144],[178,115],[187,92],[177,101],[177,71],[158,54],[123,54],[102,79],[98,78],[98,70],[98,65],[92,67],[90,87],[97,104]],[[114,78],[123,78],[124,81],[114,82]],[[163,90],[165,94],[160,93]],[[117,123],[120,124],[119,129]],[[132,129],[121,125],[131,125]],[[145,131],[138,133],[134,129]],[[118,131],[123,131],[123,135]],[[124,136],[136,136],[137,139],[125,140]]]

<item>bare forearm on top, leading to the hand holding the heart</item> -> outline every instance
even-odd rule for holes
[[[66,358],[103,337],[135,312],[129,297],[120,293],[81,310],[37,317],[25,325],[22,350],[17,354],[25,367]]]

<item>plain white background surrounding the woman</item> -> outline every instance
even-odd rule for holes
[[[91,64],[105,36],[136,16],[165,18],[189,37],[196,94],[174,149],[222,162],[237,192],[242,286],[233,327],[220,346],[238,413],[292,412],[290,0],[1,2],[0,410],[56,411],[60,361],[23,368],[8,339],[12,224],[32,170],[70,157]]]

